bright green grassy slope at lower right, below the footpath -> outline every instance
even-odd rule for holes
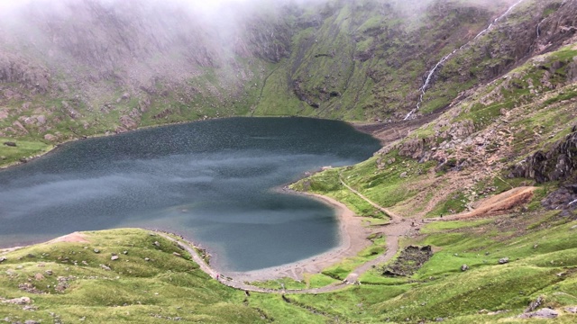
[[[362,322],[410,322],[449,318],[448,322],[492,322],[521,313],[537,296],[545,306],[574,305],[577,284],[575,221],[540,213],[496,220],[433,224],[427,235],[406,244],[431,244],[438,251],[409,278],[386,278],[378,270],[361,286],[331,295],[293,299],[304,306]],[[529,230],[536,226],[536,230]],[[511,263],[499,265],[501,257]],[[471,267],[467,272],[461,266]],[[563,275],[559,275],[563,274]],[[507,312],[498,316],[481,310]],[[575,315],[563,316],[572,322]]]

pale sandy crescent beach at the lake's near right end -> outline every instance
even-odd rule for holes
[[[371,233],[362,226],[362,219],[356,217],[354,212],[348,209],[342,202],[315,193],[298,194],[315,198],[334,208],[339,221],[339,246],[334,247],[324,254],[309,257],[295,263],[249,272],[223,272],[223,275],[246,282],[266,281],[283,277],[300,280],[304,274],[318,274],[327,266],[333,266],[341,262],[345,257],[355,257],[362,249],[371,245],[371,241],[367,239]]]

